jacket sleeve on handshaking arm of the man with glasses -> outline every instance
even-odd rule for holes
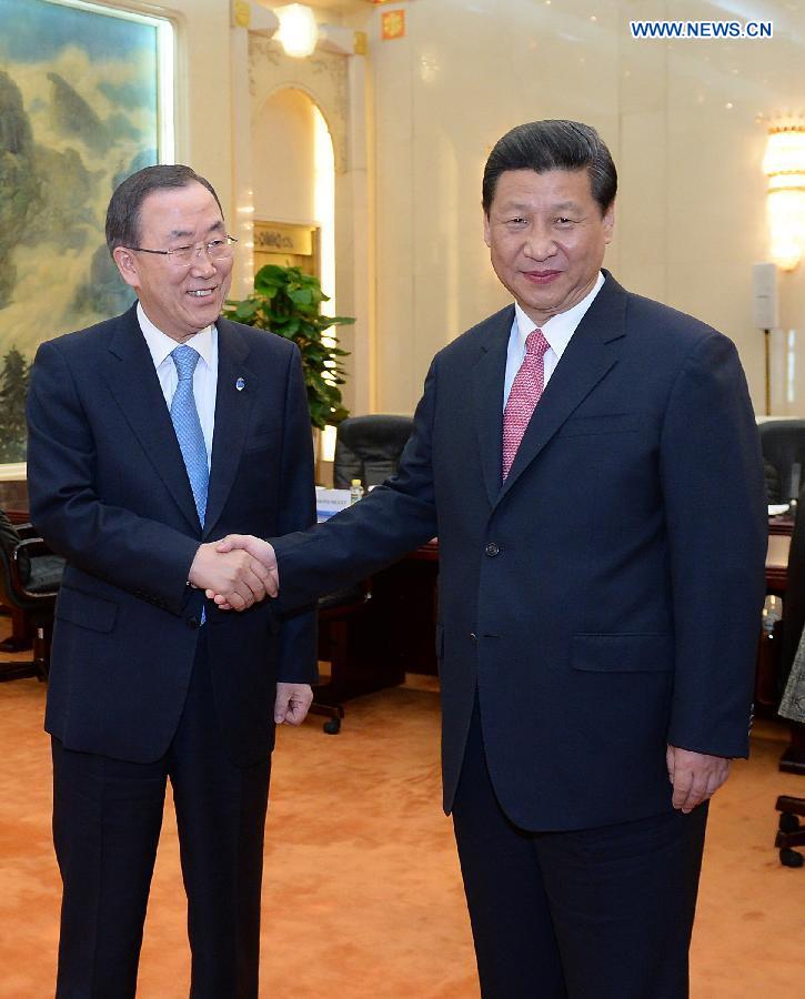
[[[31,519],[53,551],[85,573],[181,614],[199,542],[99,498],[92,427],[54,343],[37,352],[28,431]]]

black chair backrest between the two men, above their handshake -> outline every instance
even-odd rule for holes
[[[369,488],[393,475],[413,423],[410,416],[384,414],[349,416],[342,421],[335,437],[335,488],[349,488],[353,478],[360,478],[364,488]]]

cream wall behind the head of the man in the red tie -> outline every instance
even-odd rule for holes
[[[732,336],[759,410],[763,345],[749,278],[766,259],[767,236],[765,127],[756,119],[805,105],[802,4],[416,0],[401,8],[405,39],[380,40],[382,6],[370,29],[378,410],[410,412],[432,354],[506,301],[482,241],[483,163],[512,125],[554,117],[595,125],[617,163],[606,265],[630,289]],[[775,37],[630,37],[630,18],[665,17],[771,19]],[[803,268],[781,283],[783,322],[803,331]]]

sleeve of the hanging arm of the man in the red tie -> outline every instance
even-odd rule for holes
[[[767,548],[759,437],[729,340],[698,343],[671,392],[661,480],[676,660],[667,740],[748,754]]]

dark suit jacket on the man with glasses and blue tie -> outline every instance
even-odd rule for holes
[[[44,343],[29,393],[31,517],[68,559],[56,609],[46,727],[69,749],[150,761],[184,704],[203,594],[187,585],[199,544],[314,522],[310,418],[299,351],[220,319],[203,531],[135,309]],[[235,387],[238,379],[245,385]],[[315,678],[309,608],[207,602],[207,640],[235,763],[274,741],[279,680]]]

